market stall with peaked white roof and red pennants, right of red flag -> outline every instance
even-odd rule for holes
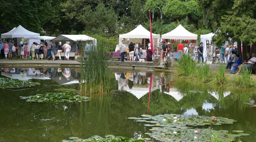
[[[183,43],[188,44],[188,46],[193,44],[193,46],[189,46],[189,52],[194,52],[194,47],[197,46],[197,38],[198,36],[194,33],[186,30],[182,25],[178,25],[175,29],[173,29],[169,33],[165,33],[162,35],[162,40],[166,42],[172,43],[172,52],[170,53],[173,58],[177,58],[177,48],[173,47],[174,43],[179,43],[179,41],[183,41]],[[169,41],[170,39],[170,41]]]

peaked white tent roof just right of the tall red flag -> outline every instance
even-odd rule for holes
[[[194,33],[188,32],[182,25],[178,25],[169,33],[162,35],[164,39],[197,39],[197,35]]]

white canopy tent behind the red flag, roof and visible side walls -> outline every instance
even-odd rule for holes
[[[133,43],[135,43],[136,41],[138,41],[139,43],[143,43],[143,39],[150,39],[150,32],[142,25],[138,25],[138,27],[134,28],[131,32],[119,35],[119,44],[122,42],[124,38],[126,38],[127,41]],[[153,42],[157,43],[159,42],[158,39],[160,38],[160,35],[152,33],[152,38],[154,39]]]

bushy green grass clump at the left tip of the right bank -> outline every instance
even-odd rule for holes
[[[196,69],[196,61],[190,55],[183,55],[178,60],[177,76],[191,76]]]

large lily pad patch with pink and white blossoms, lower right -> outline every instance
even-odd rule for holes
[[[230,134],[226,130],[216,131],[212,128],[201,129],[195,126],[204,125],[222,125],[232,124],[235,122],[233,119],[224,117],[207,117],[207,116],[195,116],[195,115],[177,115],[177,114],[164,114],[164,115],[142,115],[141,118],[129,117],[138,122],[151,123],[153,126],[149,129],[151,133],[146,133],[150,137],[153,137],[159,141],[204,141],[211,142],[216,141],[231,141],[235,137],[244,136],[243,133]],[[144,126],[152,126],[146,124]],[[191,127],[193,126],[193,127]],[[248,134],[246,134],[248,135]]]

